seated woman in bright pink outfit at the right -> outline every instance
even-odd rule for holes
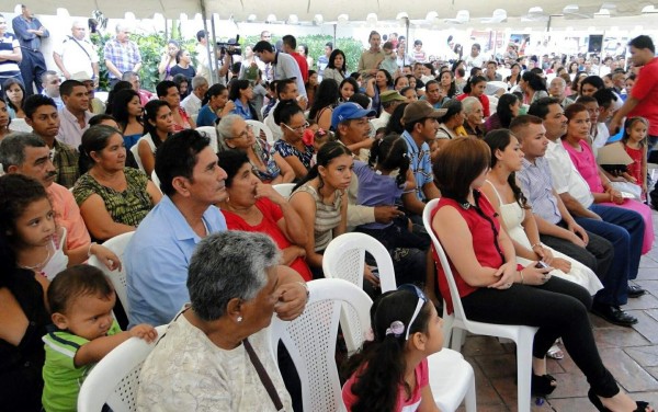
[[[621,206],[637,211],[645,222],[642,253],[647,253],[654,244],[651,209],[643,203],[625,198],[620,191],[612,187],[610,180],[599,169],[594,153],[587,142],[590,130],[587,107],[580,103],[574,103],[567,107],[565,116],[567,116],[568,123],[567,134],[563,136],[563,146],[569,153],[574,165],[589,185],[594,196],[594,203]]]

